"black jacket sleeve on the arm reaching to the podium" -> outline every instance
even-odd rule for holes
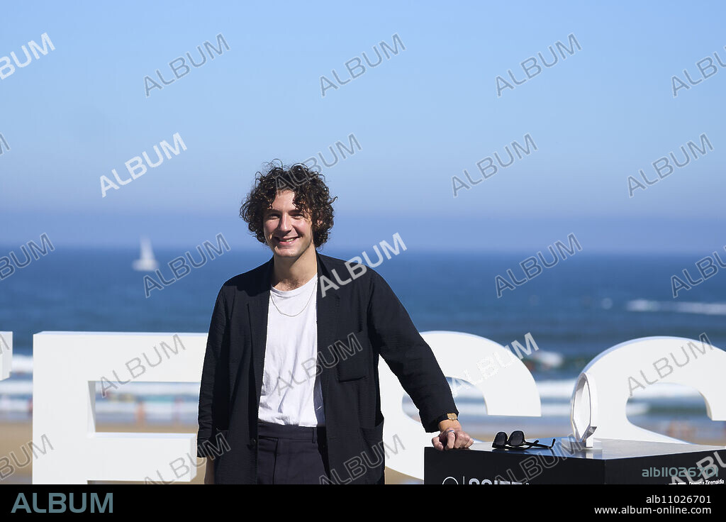
[[[449,383],[399,298],[380,274],[369,270],[370,340],[418,408],[425,431],[439,431],[437,417],[459,414]]]

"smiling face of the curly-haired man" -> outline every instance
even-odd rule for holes
[[[294,197],[292,190],[278,192],[262,217],[265,240],[275,256],[298,258],[315,249],[310,216],[295,207]]]

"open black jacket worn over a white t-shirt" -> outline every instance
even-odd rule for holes
[[[318,360],[325,361],[319,370],[332,481],[383,484],[385,460],[374,449],[383,441],[379,355],[419,409],[425,431],[439,431],[436,418],[458,410],[431,348],[383,277],[370,267],[360,274],[362,266],[355,265],[359,275],[353,279],[346,261],[316,255],[317,348]],[[199,394],[197,456],[216,456],[215,484],[256,484],[273,264],[274,257],[232,277],[214,305]],[[338,289],[323,284],[323,277]],[[364,452],[367,462],[378,465],[349,477],[344,462]]]

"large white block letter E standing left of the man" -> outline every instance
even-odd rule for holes
[[[95,383],[102,378],[134,383],[200,382],[207,334],[179,334],[181,346],[175,335],[33,335],[33,442],[43,447],[41,437],[45,436],[52,445],[33,462],[33,484],[146,478],[191,481],[196,476],[196,433],[96,431]],[[155,353],[156,346],[160,348]],[[123,384],[114,384],[123,391]]]

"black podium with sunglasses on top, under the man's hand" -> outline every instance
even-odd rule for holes
[[[494,449],[490,441],[424,450],[424,484],[723,485],[725,478],[724,446],[596,439],[584,448],[558,438],[552,449]]]

